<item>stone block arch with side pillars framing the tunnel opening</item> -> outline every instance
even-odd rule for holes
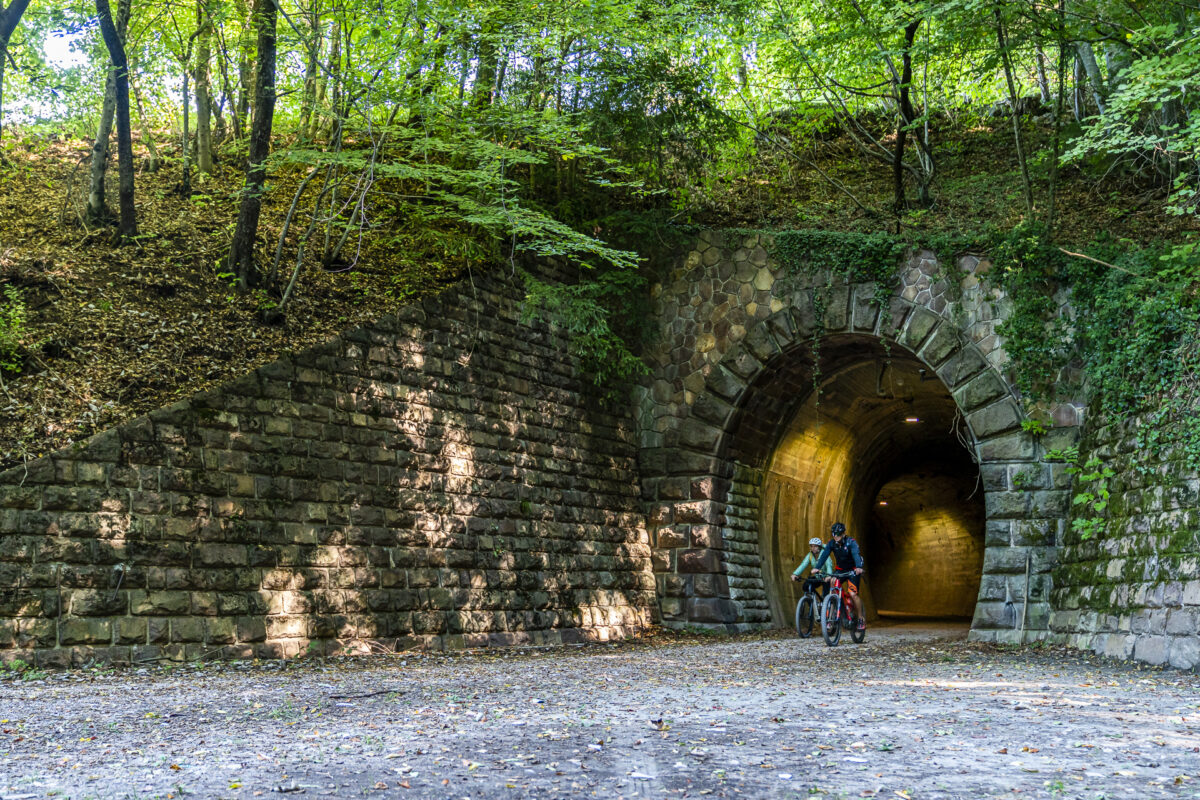
[[[670,477],[648,497],[665,624],[770,624],[757,536],[762,459],[794,408],[798,379],[811,373],[814,342],[857,338],[886,343],[936,377],[965,422],[985,513],[972,636],[1046,631],[1067,476],[1040,463],[1008,383],[958,325],[902,296],[881,313],[875,297],[874,283],[798,291],[707,371],[676,440],[658,453]]]

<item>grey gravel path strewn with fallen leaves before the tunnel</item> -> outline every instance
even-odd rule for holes
[[[1200,676],[965,630],[0,681],[0,799],[1200,798]]]

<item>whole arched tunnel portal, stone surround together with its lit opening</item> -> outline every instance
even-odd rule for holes
[[[785,624],[808,540],[842,521],[870,614],[1048,634],[1069,495],[1001,372],[943,315],[882,313],[874,284],[816,294],[748,329],[642,449],[664,624]]]

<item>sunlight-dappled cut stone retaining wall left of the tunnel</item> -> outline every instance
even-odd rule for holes
[[[649,625],[632,425],[522,296],[476,278],[0,474],[0,660]]]

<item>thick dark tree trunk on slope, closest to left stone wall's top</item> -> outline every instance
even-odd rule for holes
[[[258,31],[254,121],[250,132],[246,186],[241,193],[238,227],[229,248],[229,269],[238,277],[238,285],[242,290],[256,284],[258,278],[254,240],[258,237],[258,216],[266,184],[266,156],[271,150],[271,125],[275,121],[275,0],[254,0],[253,20]]]

